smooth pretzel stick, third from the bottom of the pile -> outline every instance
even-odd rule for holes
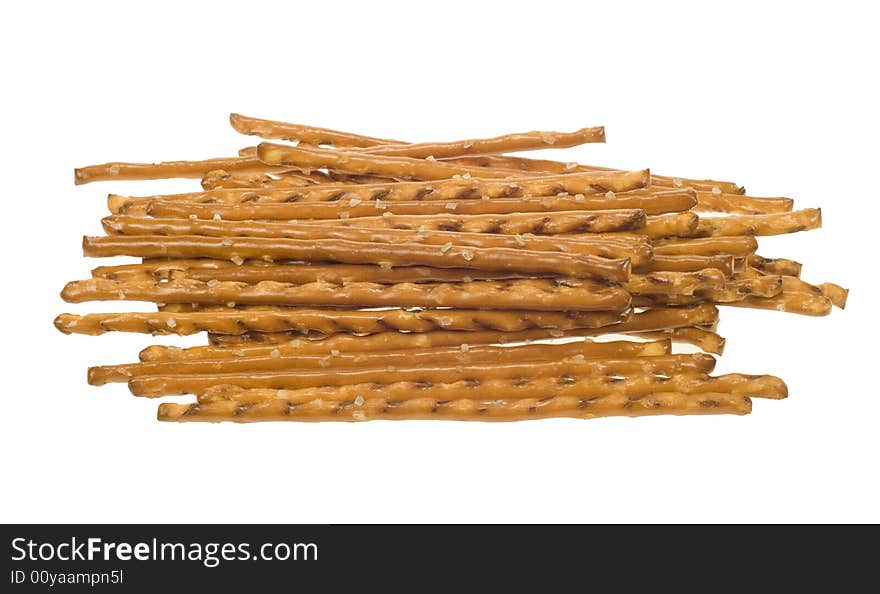
[[[620,359],[583,359],[538,361],[534,363],[457,364],[418,367],[337,367],[332,373],[324,370],[269,371],[252,373],[210,373],[169,376],[144,376],[129,380],[128,388],[135,396],[150,398],[195,394],[221,384],[242,388],[310,388],[348,384],[421,382],[426,385],[460,378],[484,381],[496,378],[577,377],[584,375],[630,375],[634,373],[709,373],[715,366],[711,355],[659,355]]]

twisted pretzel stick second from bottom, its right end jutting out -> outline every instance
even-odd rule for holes
[[[436,400],[516,400],[521,398],[596,396],[650,396],[657,392],[680,392],[682,394],[724,393],[732,396],[781,400],[788,396],[788,387],[772,375],[744,375],[730,373],[717,377],[689,373],[674,377],[635,375],[609,381],[606,377],[573,377],[571,381],[559,382],[553,377],[535,377],[528,382],[520,379],[494,379],[480,382],[451,382],[427,387],[417,382],[394,384],[353,384],[348,386],[324,386],[296,390],[273,390],[239,388],[238,386],[214,386],[198,394],[201,403],[233,400],[254,404],[270,400],[283,400],[294,404],[312,400],[337,402],[354,401],[381,396],[390,401],[434,398]],[[377,393],[380,392],[380,393]]]

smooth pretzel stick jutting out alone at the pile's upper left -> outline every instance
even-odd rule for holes
[[[104,163],[73,170],[74,183],[93,181],[200,178],[209,171],[274,171],[286,169],[266,165],[254,157],[221,157],[204,161],[164,161],[162,163]],[[287,168],[289,169],[289,168]]]

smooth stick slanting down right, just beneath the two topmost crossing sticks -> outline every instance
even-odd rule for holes
[[[395,179],[449,179],[455,175],[472,177],[525,177],[516,169],[486,169],[458,165],[446,161],[430,161],[410,157],[385,157],[342,150],[323,150],[302,146],[284,146],[261,142],[257,146],[260,161],[267,165],[300,169],[327,168],[355,175],[379,175]]]

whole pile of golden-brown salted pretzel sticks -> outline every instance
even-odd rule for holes
[[[826,315],[847,291],[756,254],[818,209],[731,182],[506,153],[604,142],[603,128],[411,144],[233,114],[238,157],[76,170],[76,183],[201,179],[111,194],[100,266],[65,301],[157,312],[62,314],[65,333],[206,332],[89,369],[165,402],[164,421],[515,421],[745,414],[770,375],[710,376],[718,307]],[[673,353],[676,344],[699,351]],[[679,349],[677,349],[679,350]],[[691,351],[695,350],[690,348]]]

